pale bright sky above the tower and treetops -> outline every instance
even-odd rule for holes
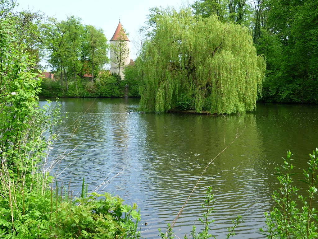
[[[58,20],[74,15],[81,18],[84,25],[102,28],[107,40],[113,36],[120,18],[131,41],[130,58],[135,59],[137,49],[134,42],[138,41],[137,31],[145,25],[149,8],[173,6],[178,9],[193,2],[194,0],[17,0],[17,10],[40,11]]]

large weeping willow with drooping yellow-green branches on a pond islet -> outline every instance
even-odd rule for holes
[[[191,107],[212,113],[252,111],[265,77],[246,27],[223,24],[217,16],[193,16],[189,9],[149,15],[154,30],[144,45],[144,111],[164,112],[186,95]]]

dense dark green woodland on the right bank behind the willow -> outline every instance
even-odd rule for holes
[[[318,2],[315,0],[198,0],[193,13],[251,29],[266,57],[266,102],[318,103]]]

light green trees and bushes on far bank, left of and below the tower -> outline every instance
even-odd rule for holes
[[[69,16],[63,21],[46,19],[38,32],[40,50],[55,72],[54,78],[43,80],[40,97],[140,97],[136,88],[143,83],[138,74],[131,74],[137,71],[135,66],[125,70],[124,81],[103,69],[109,63],[109,44],[102,29]]]

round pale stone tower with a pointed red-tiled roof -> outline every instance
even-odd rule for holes
[[[130,63],[130,40],[128,39],[120,20],[110,43],[110,73],[116,73],[124,78],[122,73]]]

